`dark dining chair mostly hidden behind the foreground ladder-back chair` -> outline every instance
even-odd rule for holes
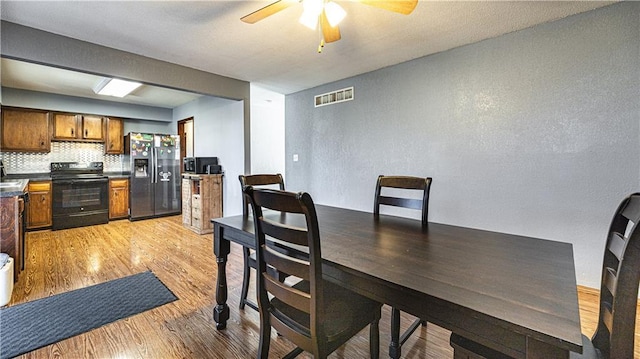
[[[284,191],[284,179],[280,173],[276,174],[255,174],[255,175],[240,175],[240,189],[244,186],[277,186],[278,189]],[[242,214],[246,217],[249,215],[249,203],[245,196],[242,196]],[[245,305],[258,310],[258,305],[247,300],[249,293],[249,282],[251,280],[251,268],[257,268],[255,253],[244,247],[242,249],[242,256],[244,259],[244,269],[242,273],[242,290],[240,292],[240,309],[244,309]],[[284,280],[284,278],[282,278]]]

